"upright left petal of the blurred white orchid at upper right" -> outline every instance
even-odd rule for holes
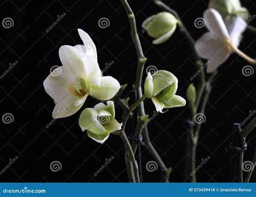
[[[218,11],[214,9],[207,9],[204,12],[204,19],[208,30],[210,30],[214,36],[222,41],[230,39],[225,23]]]

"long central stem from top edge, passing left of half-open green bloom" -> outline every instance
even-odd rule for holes
[[[134,82],[134,89],[136,89],[138,98],[140,98],[143,96],[143,94],[142,94],[142,75],[143,75],[144,64],[147,59],[144,57],[142,46],[140,44],[134,13],[132,12],[132,9],[130,8],[130,6],[126,0],[121,0],[121,2],[124,5],[124,8],[129,17],[129,20],[130,20],[131,37],[133,39],[133,43],[136,48],[136,52],[137,52],[137,56],[138,56],[138,67],[137,67],[136,79]],[[144,116],[144,115],[145,115],[145,110],[144,110],[144,104],[142,102],[142,103],[140,103],[140,107],[138,109],[138,116]],[[145,148],[156,159],[161,171],[164,171],[165,174],[168,174],[168,176],[165,176],[166,177],[165,181],[169,182],[167,180],[169,178],[169,174],[170,174],[169,169],[165,166],[165,164],[163,163],[163,160],[161,160],[159,154],[157,153],[157,151],[154,149],[153,145],[151,144],[147,126],[145,126],[145,129],[143,130],[143,138],[146,139],[146,141],[144,141],[144,139],[143,139],[144,144],[146,145]]]

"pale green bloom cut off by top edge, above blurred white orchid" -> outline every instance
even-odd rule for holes
[[[224,19],[235,16],[247,21],[250,15],[239,0],[210,0],[209,8],[217,10]]]

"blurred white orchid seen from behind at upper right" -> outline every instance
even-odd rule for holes
[[[240,17],[233,17],[224,23],[218,11],[207,9],[204,19],[209,32],[206,32],[196,41],[196,51],[199,57],[207,59],[207,73],[213,72],[234,52],[242,57],[238,50],[241,34],[246,23]]]

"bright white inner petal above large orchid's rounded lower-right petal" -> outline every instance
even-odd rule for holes
[[[89,55],[84,55],[85,68],[86,68],[86,80],[89,85],[100,85],[101,71],[99,69],[98,62]]]

